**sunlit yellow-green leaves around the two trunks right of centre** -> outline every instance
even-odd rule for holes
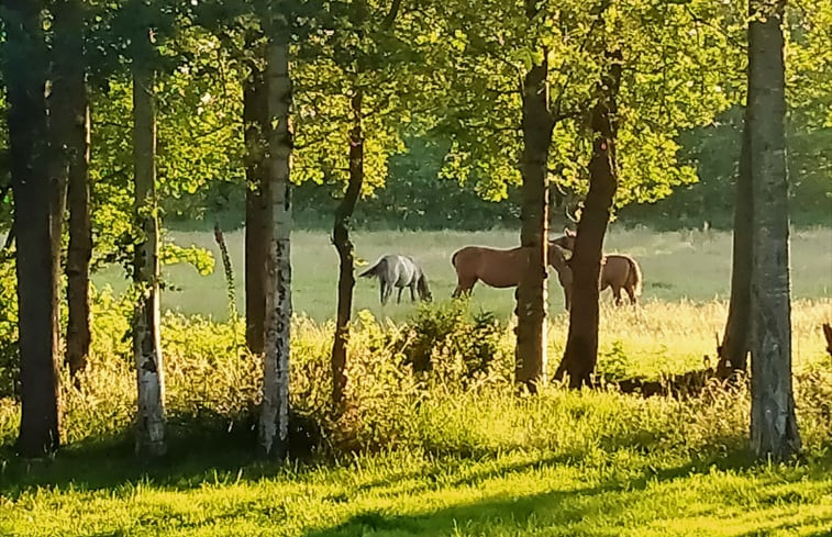
[[[439,67],[431,89],[442,96],[437,128],[454,139],[444,172],[481,181],[479,190],[492,199],[504,198],[506,186],[519,182],[521,80],[531,65],[543,61],[543,51],[556,120],[548,168],[554,180],[577,193],[587,188],[586,116],[606,69],[604,52],[614,48],[624,56],[619,206],[656,200],[691,182],[694,170],[676,159],[675,137],[740,98],[742,57],[729,45],[742,35],[743,16],[733,4],[635,1],[606,5],[601,16],[594,4],[559,2],[535,5],[539,12],[531,18],[499,0],[431,8],[435,19],[425,18],[424,31],[441,36],[433,47],[439,51],[432,51]],[[448,79],[453,86],[444,83]],[[678,82],[686,79],[698,83]]]

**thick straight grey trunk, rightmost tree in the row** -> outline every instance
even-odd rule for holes
[[[753,180],[751,446],[784,460],[800,450],[791,388],[784,2],[752,0],[748,131]]]

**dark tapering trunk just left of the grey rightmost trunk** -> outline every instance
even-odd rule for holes
[[[734,205],[734,246],[731,267],[731,301],[728,305],[725,334],[720,345],[717,374],[726,379],[736,371],[745,371],[751,338],[751,271],[752,271],[752,179],[751,138],[747,111],[740,149],[740,174],[736,178]]]

